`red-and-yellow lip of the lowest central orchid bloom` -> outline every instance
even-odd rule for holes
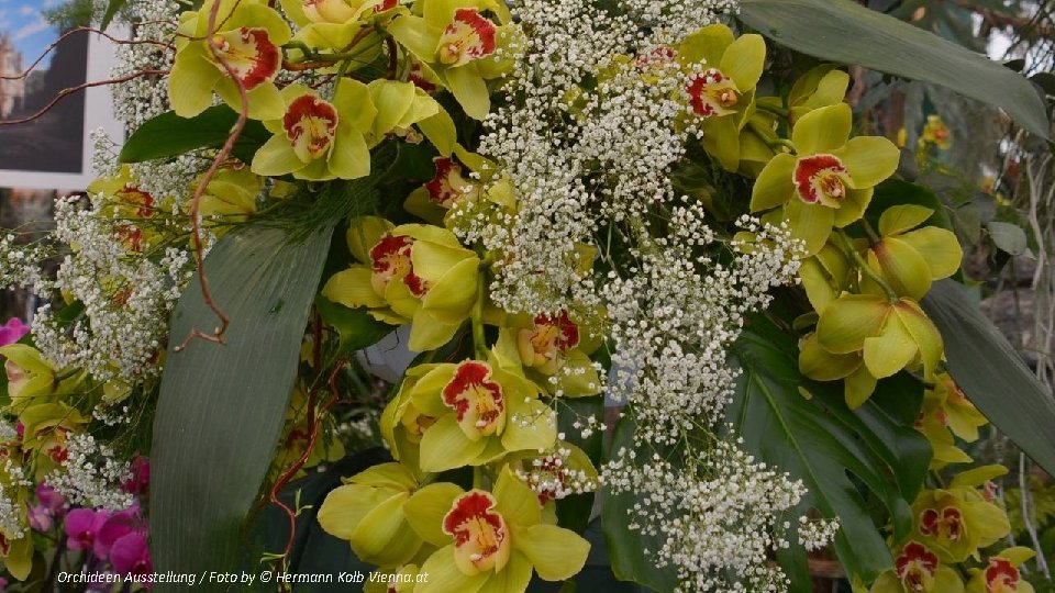
[[[443,517],[443,533],[454,537],[454,563],[464,574],[502,570],[509,561],[506,519],[488,492],[473,490],[454,500]]]

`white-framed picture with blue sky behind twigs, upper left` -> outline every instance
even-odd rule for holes
[[[113,45],[87,32],[68,36],[19,78],[58,36],[38,8],[0,3],[0,122],[29,120],[63,89],[110,78]],[[99,127],[116,142],[124,137],[106,86],[69,94],[32,121],[0,125],[0,187],[84,189],[93,178],[89,133]]]

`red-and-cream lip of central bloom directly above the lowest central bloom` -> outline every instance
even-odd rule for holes
[[[442,396],[470,440],[493,435],[506,426],[506,394],[502,385],[491,381],[491,367],[487,362],[460,362],[444,385]]]

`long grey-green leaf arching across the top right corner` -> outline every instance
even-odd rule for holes
[[[740,19],[803,54],[948,87],[1048,137],[1044,102],[1025,78],[852,0],[742,0]]]

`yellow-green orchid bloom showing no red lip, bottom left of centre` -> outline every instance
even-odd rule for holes
[[[319,524],[327,534],[347,539],[360,560],[381,567],[404,564],[422,546],[403,512],[418,486],[418,477],[406,466],[374,466],[326,495]]]

